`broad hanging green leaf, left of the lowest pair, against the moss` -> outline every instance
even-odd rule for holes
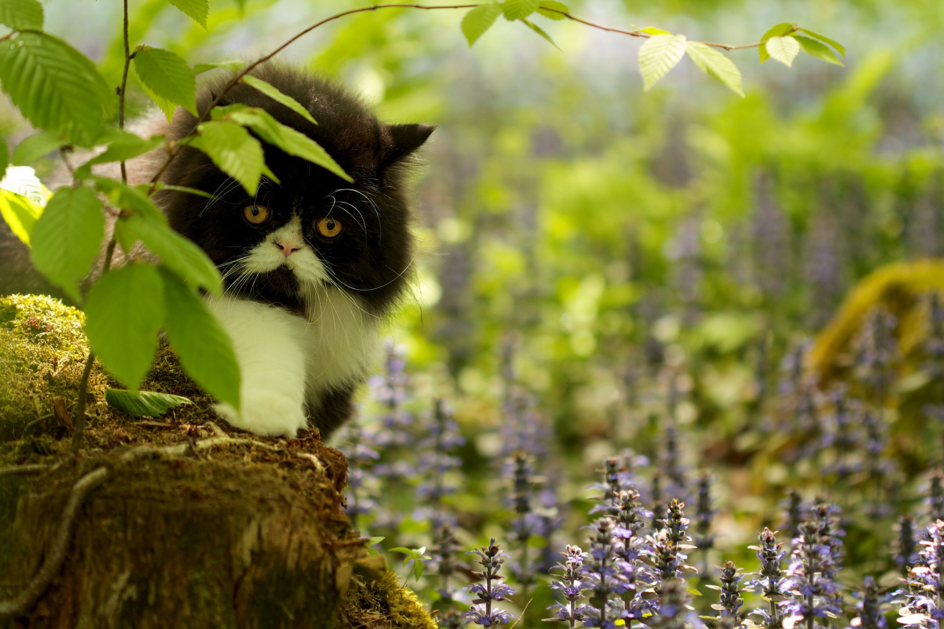
[[[85,300],[85,332],[105,369],[137,389],[158,349],[164,319],[160,273],[128,264],[102,275]]]

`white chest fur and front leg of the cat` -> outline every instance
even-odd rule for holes
[[[242,374],[240,409],[217,405],[229,423],[270,437],[295,437],[332,389],[362,381],[378,348],[377,320],[331,286],[307,296],[307,317],[235,297],[207,303],[233,341]]]

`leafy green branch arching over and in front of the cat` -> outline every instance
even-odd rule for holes
[[[168,1],[198,25],[208,27],[208,0]],[[201,298],[201,291],[221,293],[220,273],[206,253],[169,227],[152,196],[158,190],[171,188],[207,195],[202,190],[175,188],[160,181],[185,146],[204,152],[250,195],[258,190],[263,175],[276,180],[265,164],[262,142],[352,181],[328,151],[306,134],[280,124],[260,108],[221,107],[220,103],[228,91],[243,84],[295,112],[301,124],[317,124],[305,106],[254,76],[253,70],[322,25],[356,13],[406,8],[468,9],[461,28],[470,45],[479,41],[499,19],[521,23],[552,44],[554,41],[538,20],[571,21],[645,39],[639,51],[639,68],[647,91],[685,56],[701,71],[743,95],[741,74],[725,54],[727,51],[756,47],[762,62],[774,58],[786,65],[791,65],[801,52],[840,65],[840,57],[845,55],[836,41],[792,24],[774,26],[757,43],[731,45],[693,41],[659,28],[620,29],[594,24],[572,15],[557,0],[504,0],[483,4],[392,3],[352,8],[304,28],[255,61],[191,66],[173,51],[130,41],[125,8],[124,71],[121,84],[113,86],[90,58],[70,43],[42,30],[44,14],[39,0],[0,0],[0,25],[10,29],[0,35],[0,83],[13,105],[38,129],[15,147],[0,141],[0,177],[3,178],[0,215],[12,232],[31,246],[33,262],[46,279],[76,303],[84,302],[86,329],[93,349],[88,357],[87,372],[97,355],[106,369],[128,387],[136,387],[151,365],[158,333],[163,330],[194,380],[221,401],[239,406],[240,374],[231,341]],[[228,73],[229,80],[216,91],[209,106],[199,110],[196,76],[210,71]],[[181,110],[194,115],[197,120],[193,134],[182,141],[169,141],[162,136],[140,138],[126,132],[125,98],[129,75],[137,80],[142,91],[168,120]],[[111,122],[114,119],[117,124]],[[84,163],[72,164],[69,159],[75,147],[97,147],[97,150],[94,157]],[[50,195],[28,164],[54,152],[65,162],[73,181],[71,186]],[[157,173],[148,184],[129,185],[126,160],[148,152],[154,152],[159,159],[162,155]],[[15,166],[8,167],[9,162]],[[96,172],[95,167],[109,163],[120,165],[120,178]],[[103,200],[108,202],[109,208]],[[117,217],[113,232],[106,229],[106,211],[113,211]],[[103,244],[104,257],[101,256]],[[130,262],[120,269],[110,270],[116,248],[120,248]],[[153,257],[141,256],[143,249]],[[155,262],[149,261],[155,259]],[[85,286],[93,268],[98,270],[98,279],[91,286]],[[83,295],[86,290],[87,295]],[[84,393],[80,392],[75,411],[74,447],[81,439],[79,420],[84,417],[83,400]],[[421,570],[421,559],[419,555],[416,557],[416,570]]]

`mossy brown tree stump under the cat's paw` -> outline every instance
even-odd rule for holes
[[[352,535],[344,457],[316,433],[224,431],[167,350],[143,389],[194,406],[134,420],[95,370],[87,445],[68,455],[85,342],[76,310],[0,299],[0,600],[51,575],[0,626],[434,626]]]

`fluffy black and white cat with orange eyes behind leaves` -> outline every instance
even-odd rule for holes
[[[432,127],[382,124],[346,91],[304,71],[253,72],[312,113],[318,124],[240,84],[221,105],[263,108],[323,146],[354,178],[264,144],[279,184],[263,178],[249,197],[203,153],[184,148],[162,180],[205,190],[160,190],[171,226],[219,267],[225,293],[208,298],[233,340],[243,378],[241,407],[218,405],[228,422],[265,436],[295,437],[307,412],[323,437],[345,422],[371,366],[379,326],[411,274],[413,237],[403,176]],[[197,109],[226,80],[206,86]],[[177,109],[167,133],[180,139],[196,119]]]

